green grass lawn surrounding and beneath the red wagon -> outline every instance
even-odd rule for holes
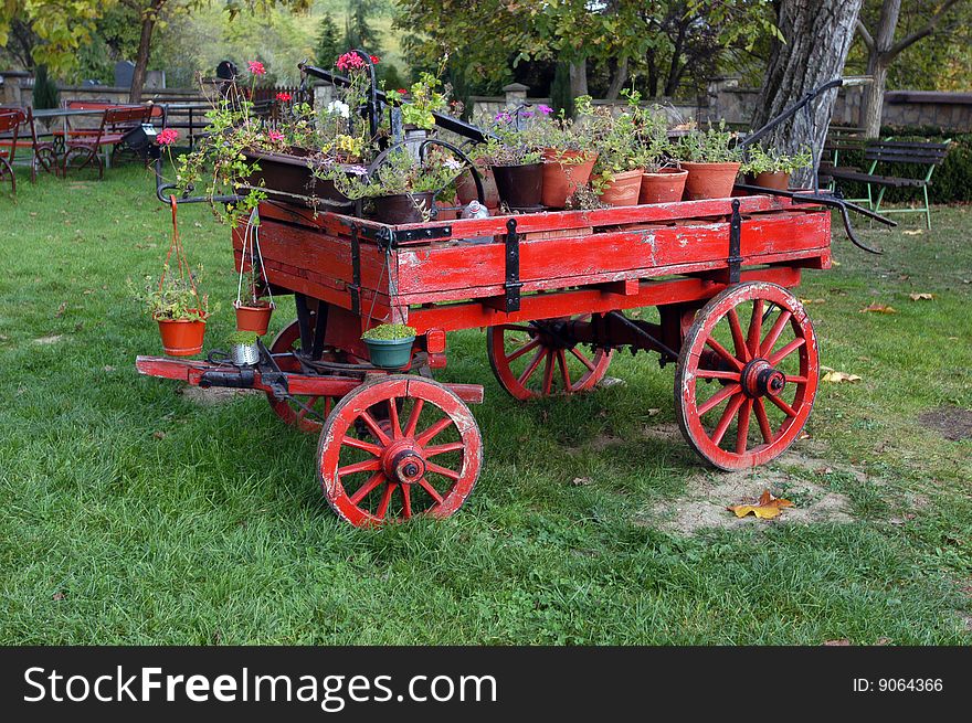
[[[126,286],[168,245],[150,176],[21,180],[0,196],[0,644],[970,641],[972,442],[919,421],[972,408],[969,209],[865,230],[883,257],[837,232],[841,265],[799,290],[823,363],[862,381],[822,385],[810,438],[742,479],[797,508],[844,496],[853,521],[673,531],[652,510],[722,476],[668,434],[672,368],[619,354],[625,385],[522,404],[474,330],[441,379],[486,387],[475,491],[447,521],[361,531],[320,495],[317,439],[264,398],[202,405],[136,373],[161,353]],[[229,233],[181,215],[222,302],[213,345],[232,326]],[[898,312],[859,312],[871,302]]]

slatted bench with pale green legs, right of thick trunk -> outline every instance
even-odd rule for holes
[[[917,140],[871,140],[864,147],[864,159],[870,161],[870,168],[865,172],[856,168],[842,168],[839,166],[828,169],[827,174],[836,183],[841,181],[857,181],[867,184],[867,204],[874,211],[880,211],[880,204],[888,189],[921,189],[925,198],[923,209],[885,209],[883,213],[925,213],[925,223],[931,228],[931,205],[928,200],[928,187],[931,185],[931,176],[934,169],[944,161],[949,152],[951,140],[940,143]],[[905,164],[920,169],[912,176],[891,176],[877,172],[878,164]],[[923,176],[922,176],[923,172]],[[874,198],[873,188],[879,189],[877,199]],[[860,199],[864,201],[864,199]]]

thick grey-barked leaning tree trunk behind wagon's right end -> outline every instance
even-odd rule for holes
[[[754,129],[805,94],[841,77],[860,4],[862,0],[782,0],[776,25],[786,42],[774,43],[752,118]],[[784,153],[809,146],[820,162],[836,97],[835,89],[816,98],[810,114],[801,110],[770,131],[763,142]],[[812,169],[797,171],[794,177],[797,184],[809,185]]]

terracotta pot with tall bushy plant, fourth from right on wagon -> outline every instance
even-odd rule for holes
[[[591,172],[591,185],[601,201],[611,206],[637,205],[644,173],[644,141],[641,135],[640,95],[627,95],[628,106],[616,117],[604,106],[595,108],[590,96],[581,96],[575,105],[587,117],[598,159]]]

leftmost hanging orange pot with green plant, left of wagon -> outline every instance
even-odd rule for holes
[[[151,276],[146,277],[146,287],[136,293],[136,298],[147,306],[149,316],[158,322],[166,354],[192,357],[202,351],[209,298],[199,295],[191,272],[179,276],[169,272],[166,264],[157,281]]]

